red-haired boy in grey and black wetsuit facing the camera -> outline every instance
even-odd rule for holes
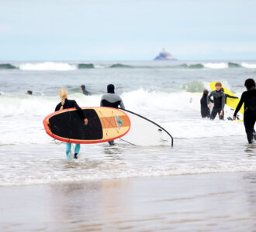
[[[216,115],[219,114],[219,118],[223,120],[224,118],[224,107],[225,107],[225,94],[221,90],[222,84],[220,82],[216,82],[215,84],[216,90],[211,92],[207,97],[208,107],[211,107],[209,104],[210,98],[213,96],[213,111],[210,114],[210,119],[214,120]]]

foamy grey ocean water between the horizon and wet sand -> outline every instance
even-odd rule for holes
[[[256,147],[247,145],[242,122],[202,119],[187,104],[187,91],[202,93],[221,81],[240,97],[256,61],[2,62],[0,63],[0,186],[88,179],[256,171]],[[85,84],[92,96],[81,94]],[[126,109],[167,129],[174,147],[140,147],[116,141],[81,145],[67,162],[64,143],[43,129],[60,102],[60,88],[81,107],[99,106],[115,84]],[[33,96],[26,95],[33,90]]]

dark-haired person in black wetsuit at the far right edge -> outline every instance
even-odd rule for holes
[[[251,144],[253,138],[256,140],[256,133],[254,131],[256,121],[256,89],[254,79],[245,80],[244,86],[247,88],[247,91],[244,91],[242,94],[233,119],[236,120],[237,113],[244,103],[244,128],[247,134],[247,140]]]

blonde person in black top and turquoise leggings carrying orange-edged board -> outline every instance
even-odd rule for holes
[[[88,125],[88,119],[86,118],[85,112],[81,110],[81,107],[78,106],[77,102],[74,100],[68,100],[67,99],[67,90],[65,89],[61,89],[59,91],[59,96],[61,97],[61,102],[59,104],[57,104],[57,106],[55,107],[55,111],[61,111],[64,109],[68,109],[68,108],[73,108],[75,107],[79,114],[81,114],[81,118],[84,119],[85,121],[85,125]],[[71,143],[67,142],[66,145],[66,155],[67,155],[67,160],[70,160],[70,152],[71,152]],[[78,153],[80,152],[80,144],[75,144],[75,148],[74,148],[74,159],[78,159]]]

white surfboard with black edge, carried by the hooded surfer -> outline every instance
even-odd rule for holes
[[[170,133],[143,116],[132,111],[123,110],[130,118],[130,131],[120,140],[132,145],[166,145],[173,146],[173,138]]]

